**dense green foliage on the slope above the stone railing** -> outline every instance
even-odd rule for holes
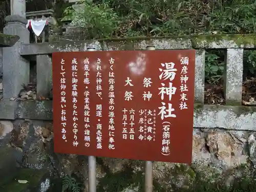
[[[83,0],[82,5],[65,13],[75,25],[96,27],[99,33],[91,38],[256,32],[252,0]]]

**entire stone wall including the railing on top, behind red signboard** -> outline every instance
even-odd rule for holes
[[[154,45],[156,49],[195,48],[193,162],[191,165],[154,162],[155,191],[254,191],[256,111],[253,107],[242,106],[241,96],[243,49],[253,49],[256,45],[255,37],[216,35],[74,41],[65,36],[54,37],[60,40],[57,42],[21,43],[16,45],[18,52],[14,51],[12,57],[18,62],[19,59],[29,59],[36,55],[37,95],[45,96],[51,90],[51,53],[55,51],[86,51],[88,47],[102,51],[145,50],[149,45]],[[205,49],[209,48],[227,51],[226,105],[203,104]],[[3,65],[6,66],[3,68],[4,74],[11,71],[15,78],[14,74],[18,71],[8,67],[6,62]],[[6,174],[9,167],[13,170],[10,177],[21,179],[25,176],[19,173],[36,170],[39,182],[26,187],[37,187],[44,192],[60,191],[53,188],[53,184],[61,187],[59,178],[66,174],[73,174],[72,177],[77,177],[81,183],[87,183],[84,182],[88,179],[87,157],[53,152],[52,101],[17,99],[23,88],[13,89],[8,85],[4,80],[4,99],[0,101],[0,153],[9,154],[0,163],[2,173]],[[18,172],[14,172],[16,169]],[[28,177],[28,180],[32,179]],[[97,158],[98,191],[143,191],[143,182],[143,161]],[[5,182],[6,187],[12,184]],[[88,188],[87,184],[85,187]]]

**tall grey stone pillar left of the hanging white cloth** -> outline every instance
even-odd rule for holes
[[[19,55],[20,44],[29,44],[26,28],[26,0],[11,0],[11,15],[6,17],[4,34],[17,35],[13,47],[3,48],[3,97],[17,97],[22,84],[29,82],[29,60]]]

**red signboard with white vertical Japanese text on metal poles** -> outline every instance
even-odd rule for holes
[[[52,57],[56,153],[191,163],[195,50]]]

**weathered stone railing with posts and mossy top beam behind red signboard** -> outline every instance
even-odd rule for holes
[[[196,49],[194,127],[220,127],[233,130],[256,131],[254,126],[256,124],[256,110],[253,107],[242,106],[241,104],[243,50],[253,49],[255,45],[256,36],[254,35],[200,35],[191,37],[101,39],[87,41],[72,41],[68,37],[61,37],[58,42],[21,44],[19,54],[21,56],[20,59],[36,55],[37,95],[44,96],[51,89],[51,54],[53,52],[86,51],[88,47],[94,47],[96,50],[101,51],[145,50],[146,46],[155,46],[156,49],[160,50]],[[226,72],[224,75],[226,105],[203,104],[206,49],[222,49],[226,51]],[[26,68],[26,66],[20,67]],[[3,73],[8,74],[8,68],[5,68]],[[19,71],[16,73],[19,73]],[[26,75],[29,76],[29,74]],[[12,80],[11,78],[13,76],[15,77],[15,74],[12,74],[12,77],[9,77],[9,79]],[[4,75],[4,77],[6,76]],[[19,81],[23,81],[29,77],[23,75],[19,78]],[[8,86],[8,81],[4,80],[3,82],[5,99],[0,102],[0,109],[6,110],[5,113],[0,114],[0,118],[52,120],[52,101],[9,101],[8,98],[18,94],[19,87],[13,89]]]

